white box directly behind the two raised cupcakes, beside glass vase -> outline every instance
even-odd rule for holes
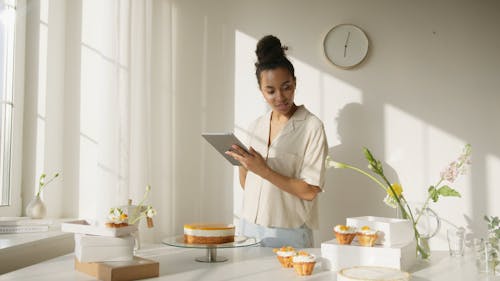
[[[347,218],[346,224],[358,228],[366,225],[378,230],[379,237],[375,242],[377,245],[401,245],[408,244],[414,240],[414,232],[409,220],[364,216]]]

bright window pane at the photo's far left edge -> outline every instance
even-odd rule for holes
[[[0,206],[10,203],[15,6],[0,1]]]

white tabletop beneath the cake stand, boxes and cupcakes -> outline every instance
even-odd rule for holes
[[[306,249],[321,256],[319,248]],[[195,258],[203,256],[203,249],[185,249],[166,245],[149,245],[137,255],[160,262],[160,277],[149,280],[336,280],[335,271],[322,268],[321,260],[316,264],[313,275],[300,277],[293,269],[281,268],[271,248],[258,246],[220,249],[218,255],[229,258],[221,263],[201,263]],[[0,276],[0,280],[95,280],[91,276],[77,272],[74,255],[68,254],[44,261]],[[452,258],[447,252],[433,252],[431,260],[419,261],[410,271],[412,281],[483,281],[500,280],[478,274],[471,254]]]

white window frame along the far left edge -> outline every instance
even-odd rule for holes
[[[0,0],[12,4],[18,11],[26,10],[26,0]],[[24,115],[24,62],[26,42],[26,14],[16,13],[14,35],[14,75],[12,102],[12,138],[9,205],[0,206],[0,216],[21,216],[21,178],[23,148],[23,115]]]

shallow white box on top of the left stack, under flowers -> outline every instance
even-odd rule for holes
[[[128,225],[124,227],[106,227],[104,224],[93,224],[86,220],[76,220],[61,224],[62,232],[73,232],[100,236],[127,236],[137,231],[137,225]]]

